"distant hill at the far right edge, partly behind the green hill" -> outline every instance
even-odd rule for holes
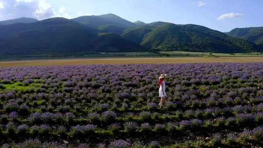
[[[235,28],[226,34],[246,39],[263,47],[263,27]]]

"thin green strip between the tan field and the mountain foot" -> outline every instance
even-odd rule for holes
[[[102,52],[102,53],[76,53],[76,54],[53,54],[53,55],[0,55],[0,61],[14,60],[36,60],[36,59],[68,59],[68,58],[120,58],[120,57],[204,57],[210,53],[204,52]],[[220,57],[263,57],[263,53],[212,53],[213,56]]]

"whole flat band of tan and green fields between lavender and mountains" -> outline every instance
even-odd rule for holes
[[[261,62],[262,53],[118,52],[75,55],[0,56],[0,67],[87,64]]]

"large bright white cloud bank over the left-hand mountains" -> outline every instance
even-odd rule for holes
[[[47,0],[0,0],[0,20],[16,19],[21,17],[36,18],[39,20],[52,17],[67,19],[90,15],[87,12],[69,13],[64,6],[54,7]]]

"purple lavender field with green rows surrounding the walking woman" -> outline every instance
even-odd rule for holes
[[[168,74],[160,108],[158,77]],[[263,145],[263,64],[0,68],[2,148]]]

